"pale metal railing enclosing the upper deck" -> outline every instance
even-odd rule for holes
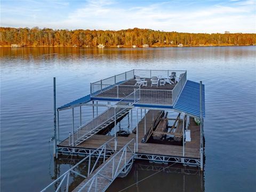
[[[124,79],[124,74],[129,73],[129,78],[133,78],[132,75],[138,75],[141,78],[151,78],[152,76],[157,76],[159,78],[169,77],[175,74],[175,79],[178,83],[175,85],[173,90],[151,90],[151,89],[140,89],[140,86],[135,85],[122,85],[122,84],[103,84],[95,82],[91,84],[92,97],[102,97],[102,98],[125,98],[127,95],[131,94],[134,89],[140,89],[140,103],[154,103],[161,105],[173,105],[175,100],[178,98],[182,87],[187,81],[187,71],[186,70],[142,70],[133,69],[123,74],[110,77],[118,81]],[[179,77],[179,78],[178,78]],[[130,79],[131,79],[130,78]],[[129,79],[126,77],[126,81]],[[103,82],[106,82],[105,80]],[[116,82],[116,81],[115,81]]]

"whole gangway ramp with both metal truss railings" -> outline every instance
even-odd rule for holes
[[[118,175],[126,175],[132,167],[135,156],[135,140],[131,139],[123,147],[115,151],[115,138],[105,142],[91,153],[54,180],[43,191],[70,191],[74,178],[84,180],[73,191],[105,191]],[[109,154],[111,154],[109,156]],[[99,165],[100,159],[103,163]],[[85,163],[86,165],[83,165]],[[97,167],[98,166],[98,167]],[[83,167],[83,170],[81,170]],[[73,177],[71,179],[70,177]],[[73,181],[72,181],[73,180]]]

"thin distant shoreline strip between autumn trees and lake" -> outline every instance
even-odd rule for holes
[[[183,45],[183,46],[149,46],[149,47],[143,47],[142,45],[140,46],[136,46],[135,48],[157,48],[157,47],[211,47],[211,46],[255,46],[255,45]],[[17,47],[13,47],[11,45],[0,45],[0,47],[10,47],[10,48],[21,48],[21,47],[83,47],[83,48],[89,48],[89,47],[97,47],[97,46],[17,46]],[[119,47],[111,45],[111,46],[105,46],[106,48],[134,48],[132,46],[127,46],[127,45],[119,45]],[[102,48],[99,48],[102,49]]]

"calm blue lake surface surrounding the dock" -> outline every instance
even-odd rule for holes
[[[131,69],[187,70],[188,79],[203,81],[205,171],[176,165],[157,173],[167,165],[137,161],[109,191],[255,191],[255,46],[0,51],[1,191],[39,191],[71,166],[71,157],[68,163],[52,158],[53,77],[59,107],[89,94],[90,82]],[[91,109],[83,110],[86,121]],[[65,139],[71,111],[60,121]]]

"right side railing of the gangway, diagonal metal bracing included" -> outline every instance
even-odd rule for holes
[[[133,142],[133,143],[132,143]],[[108,186],[115,180],[119,173],[125,168],[127,163],[130,163],[135,155],[136,143],[135,140],[130,140],[121,150],[119,150],[114,156],[110,157],[109,161],[106,162],[98,171],[90,178],[79,190],[84,191],[105,191]],[[132,155],[128,155],[130,153]],[[122,166],[123,165],[123,166]],[[111,176],[106,174],[111,170]],[[106,180],[107,185],[102,189],[102,183],[99,180]],[[98,185],[101,186],[98,186]],[[101,188],[100,188],[101,187]]]

